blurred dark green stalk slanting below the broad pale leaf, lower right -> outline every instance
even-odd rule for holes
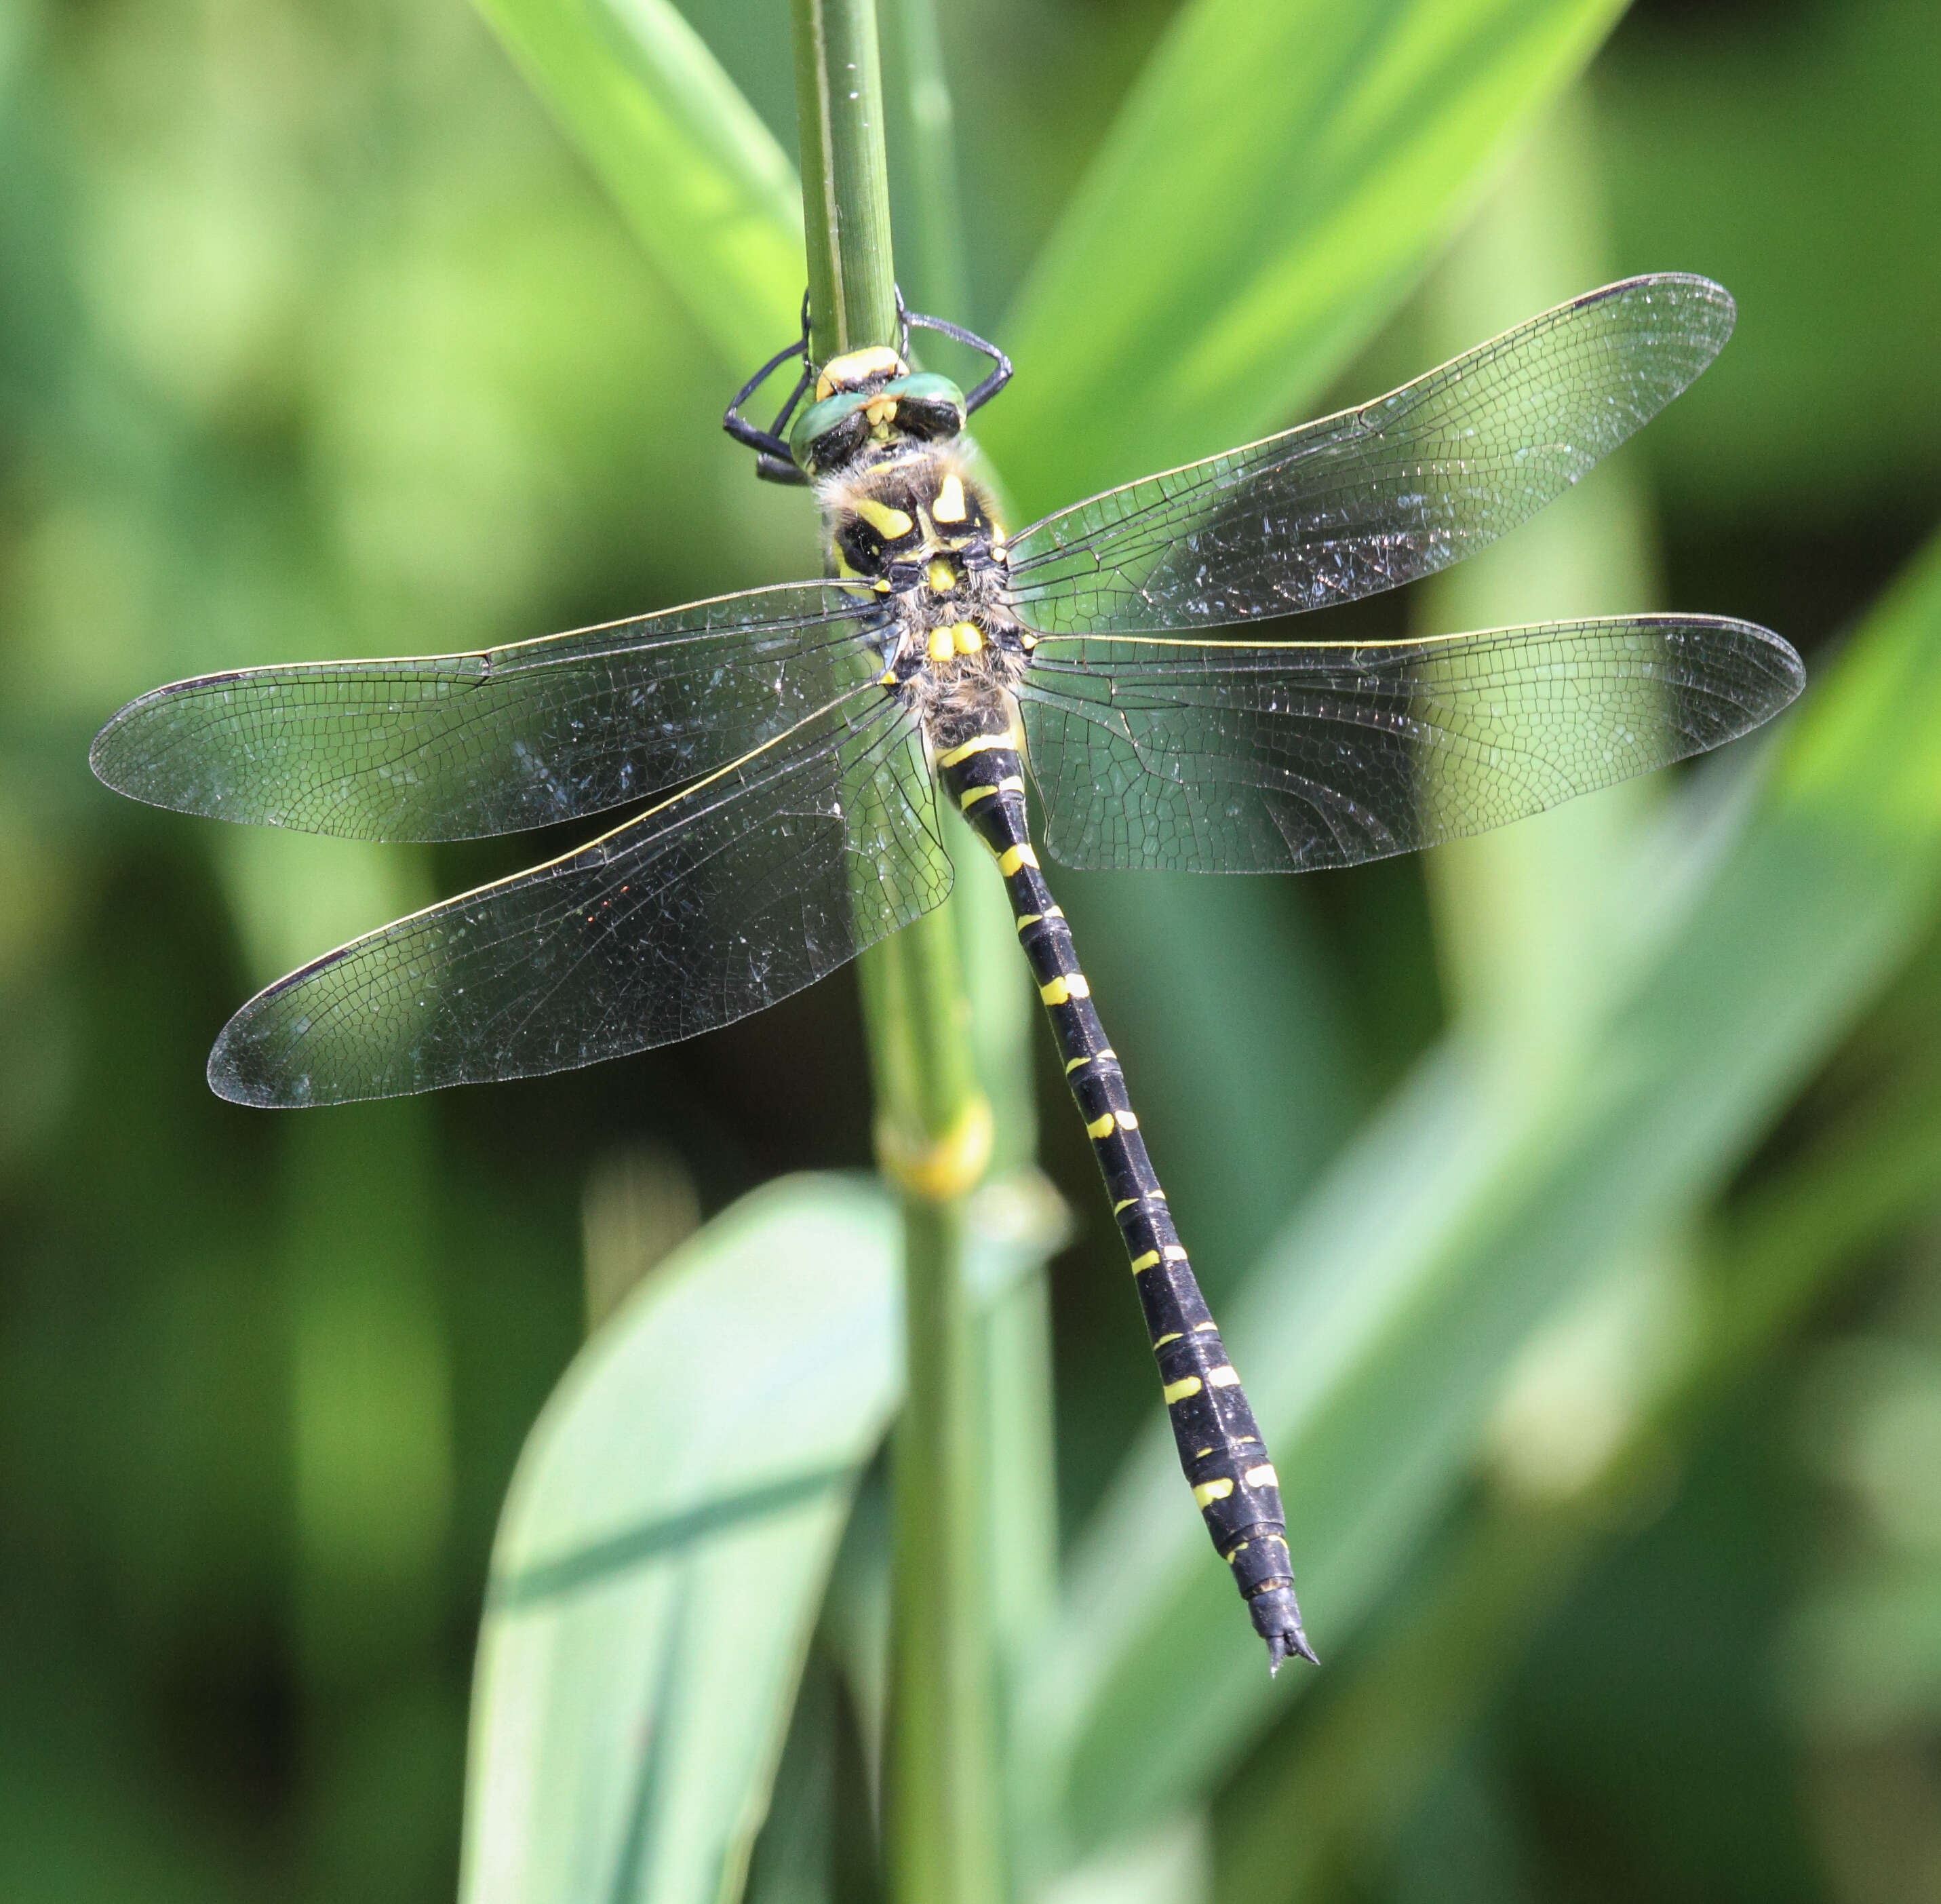
[[[1941,1091],[1927,1075],[1716,1223],[1696,1252],[1698,1328],[1656,1403],[1582,1487],[1487,1498],[1425,1555],[1374,1652],[1223,1797],[1221,1890],[1260,1904],[1326,1896],[1337,1859],[1405,1815],[1524,1640],[1623,1537],[1679,1452],[1852,1271],[1935,1207],[1937,1184]]]

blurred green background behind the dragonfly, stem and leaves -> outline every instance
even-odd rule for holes
[[[778,0],[685,12],[792,151]],[[953,316],[1000,326],[1168,16],[947,10]],[[1628,573],[1780,629],[1809,672],[1941,518],[1935,72],[1925,0],[1650,0],[1547,134],[1599,206],[1564,289],[1700,270],[1741,307],[1613,472]],[[1504,289],[1493,215],[1343,400],[1551,301],[1469,322],[1477,260]],[[0,16],[8,1898],[448,1896],[493,1520],[602,1277],[780,1170],[868,1165],[846,976],[561,1079],[301,1118],[217,1102],[202,1062],[250,990],[536,842],[254,837],[85,771],[93,728],[161,679],[813,573],[802,497],[757,487],[718,429],[747,369],[460,0]],[[1029,361],[1003,402],[1029,433]],[[1432,856],[1279,883],[1225,936],[1248,1015],[1209,1046],[1174,1009],[1178,939],[1114,922],[1201,908],[1217,932],[1223,901],[1064,877],[1215,1302],[1444,1029],[1489,1009],[1452,879]],[[1784,1248],[1828,1155],[1898,1170],[1859,1172],[1879,1221],[1797,1314],[1669,1407],[1654,1374],[1683,1285],[1646,1267],[1615,1310],[1541,1330],[1376,1613],[1330,1646],[1310,1607],[1328,1677],[1277,1708],[1215,1821],[1299,1817],[1316,1894],[1357,1900],[1941,1898],[1937,1007],[1941,941],[1691,1219],[1698,1254]],[[1046,1166],[1081,1232],[1054,1269],[1075,1527],[1153,1397],[1048,1056]],[[1242,1073],[1285,1093],[1240,1114]],[[1436,1671],[1450,1621],[1483,1661],[1460,1694]],[[1250,1896],[1293,1894],[1271,1838],[1258,1869],[1234,1855]]]

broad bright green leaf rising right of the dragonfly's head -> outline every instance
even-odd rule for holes
[[[1186,6],[1000,332],[1019,394],[978,433],[1027,512],[1289,419],[1619,12]]]

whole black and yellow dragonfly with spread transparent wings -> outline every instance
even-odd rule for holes
[[[1605,285],[1370,404],[1015,534],[967,435],[1003,353],[903,312],[895,344],[815,363],[804,318],[726,425],[759,474],[813,487],[825,576],[472,654],[202,675],[107,722],[101,780],[227,821],[454,840],[646,802],[280,978],[227,1023],[210,1083],[340,1104],[728,1025],[941,904],[961,819],[1009,897],[1194,1502],[1269,1669],[1312,1661],[1279,1479],[1046,883],[1031,788],[1066,866],[1291,873],[1497,827],[1768,720],[1803,672],[1745,621],[1246,633],[1516,528],[1698,377],[1733,314],[1696,276]],[[912,326],[996,367],[965,394],[916,367]],[[798,355],[759,429],[740,406]]]

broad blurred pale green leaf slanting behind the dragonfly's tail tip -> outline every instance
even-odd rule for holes
[[[1514,1097],[1452,1042],[1269,1252],[1225,1333],[1324,1658],[1460,1481],[1526,1331],[1720,1184],[1931,920],[1937,763],[1941,545],[1813,691],[1743,837],[1584,1048]],[[1025,1737],[1079,1848],[1192,1803],[1269,1716],[1178,1489],[1155,1423],[1033,1687]]]

